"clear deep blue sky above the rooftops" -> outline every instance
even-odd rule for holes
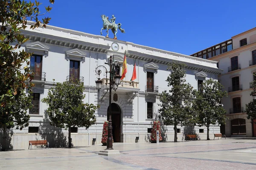
[[[255,0],[55,0],[47,16],[49,25],[100,35],[101,14],[114,14],[126,32],[117,33],[119,40],[190,55],[256,27],[255,6]]]

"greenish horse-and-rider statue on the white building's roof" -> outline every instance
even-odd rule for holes
[[[121,28],[121,23],[116,24],[116,17],[114,15],[112,15],[111,20],[108,20],[108,17],[106,17],[106,15],[101,15],[102,17],[102,21],[103,21],[103,28],[102,29],[107,29],[107,33],[108,30],[111,29],[111,31],[114,34],[114,39],[116,39],[116,33],[117,33],[117,28],[122,32],[125,33],[125,29]],[[100,34],[102,35],[102,29],[100,30]],[[108,34],[106,35],[106,37],[108,37]]]

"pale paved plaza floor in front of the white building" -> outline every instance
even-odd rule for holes
[[[256,140],[114,143],[120,156],[99,156],[105,146],[33,148],[0,152],[0,170],[256,170]]]

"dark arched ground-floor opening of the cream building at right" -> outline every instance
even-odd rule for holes
[[[231,133],[232,135],[245,135],[246,134],[245,119],[231,120]]]

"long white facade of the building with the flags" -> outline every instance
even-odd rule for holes
[[[194,89],[198,89],[201,80],[217,79],[221,73],[215,61],[54,26],[27,29],[22,31],[22,34],[29,38],[29,41],[19,50],[33,53],[30,69],[35,72],[33,82],[36,86],[33,88],[33,108],[28,111],[29,127],[23,130],[12,129],[10,132],[10,145],[16,149],[27,148],[29,140],[46,139],[50,147],[67,144],[68,130],[49,125],[45,113],[47,104],[42,103],[41,99],[47,96],[54,82],[69,81],[71,76],[84,82],[84,102],[100,105],[95,113],[95,125],[89,129],[72,128],[73,145],[91,145],[93,138],[96,138],[96,144],[100,144],[103,123],[108,115],[109,93],[104,85],[106,78],[103,75],[102,88],[99,91],[96,89],[95,69],[99,65],[109,68],[105,62],[108,62],[110,56],[122,63],[126,51],[128,69],[116,92],[112,92],[114,142],[137,142],[136,137],[140,137],[139,142],[149,142],[153,121],[157,120],[159,115],[159,94],[169,89],[165,81],[170,74],[170,71],[167,71],[169,63],[180,61],[187,65],[186,81]],[[137,79],[131,82],[134,62]],[[185,139],[186,133],[197,133],[201,139],[206,139],[207,136],[206,127],[177,128],[180,141]],[[213,133],[219,132],[219,125],[210,127],[212,138]],[[173,141],[173,126],[161,125],[161,133],[164,140]]]

